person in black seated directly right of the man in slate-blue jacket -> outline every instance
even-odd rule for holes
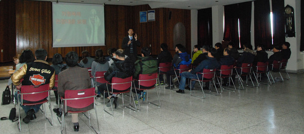
[[[234,64],[235,60],[229,54],[230,54],[230,49],[229,48],[225,48],[224,49],[223,57],[221,57],[219,59],[219,64],[220,65],[233,65]],[[222,85],[226,86],[227,85],[227,81],[228,81],[228,78],[224,78]]]

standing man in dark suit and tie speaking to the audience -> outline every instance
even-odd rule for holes
[[[124,37],[122,42],[122,49],[124,49],[125,55],[135,62],[137,57],[137,47],[140,47],[140,42],[137,40],[137,34],[133,36],[133,29],[128,30],[128,36]]]

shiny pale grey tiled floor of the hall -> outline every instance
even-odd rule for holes
[[[284,76],[286,74],[283,74]],[[304,74],[290,74],[291,79],[271,86],[245,87],[245,90],[223,91],[220,96],[206,94],[206,99],[191,97],[189,91],[177,94],[174,90],[158,88],[162,106],[141,103],[141,111],[133,112],[122,106],[114,116],[103,111],[103,100],[98,99],[97,114],[101,133],[304,133]],[[7,80],[0,80],[5,89]],[[198,88],[195,94],[202,96]],[[148,92],[151,102],[157,103],[156,92]],[[1,96],[2,97],[2,96]],[[0,98],[1,98],[0,97]],[[52,99],[54,100],[52,93]],[[125,97],[128,104],[129,98]],[[0,117],[8,116],[13,104],[0,106]],[[52,102],[52,107],[56,104]],[[108,109],[108,108],[107,108]],[[109,109],[108,109],[109,110]],[[95,112],[91,112],[96,128]],[[50,115],[50,112],[47,111]],[[21,117],[25,113],[21,111]],[[0,121],[1,133],[60,133],[60,124],[53,113],[51,126],[41,112],[28,124]],[[72,129],[71,116],[66,117],[67,133],[94,133],[88,119],[80,115],[80,131]]]

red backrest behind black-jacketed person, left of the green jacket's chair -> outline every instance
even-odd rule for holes
[[[118,91],[127,90],[132,85],[132,76],[127,78],[112,77],[112,88]]]

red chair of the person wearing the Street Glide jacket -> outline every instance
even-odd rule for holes
[[[33,106],[33,105],[39,105],[39,104],[45,104],[49,103],[49,108],[51,112],[51,118],[52,122],[47,118],[47,113],[45,110],[43,112],[45,113],[45,118],[50,122],[50,124],[53,126],[53,114],[52,114],[52,105],[50,103],[50,85],[44,84],[44,85],[22,85],[20,91],[18,92],[18,102],[20,105],[23,106]],[[19,96],[20,99],[19,100]],[[23,100],[30,101],[30,102],[36,102],[36,103],[23,103]],[[39,101],[39,102],[38,102]],[[20,106],[19,105],[19,130],[21,130],[21,120],[20,120]],[[43,105],[42,105],[43,106]],[[43,106],[44,109],[44,106]]]

